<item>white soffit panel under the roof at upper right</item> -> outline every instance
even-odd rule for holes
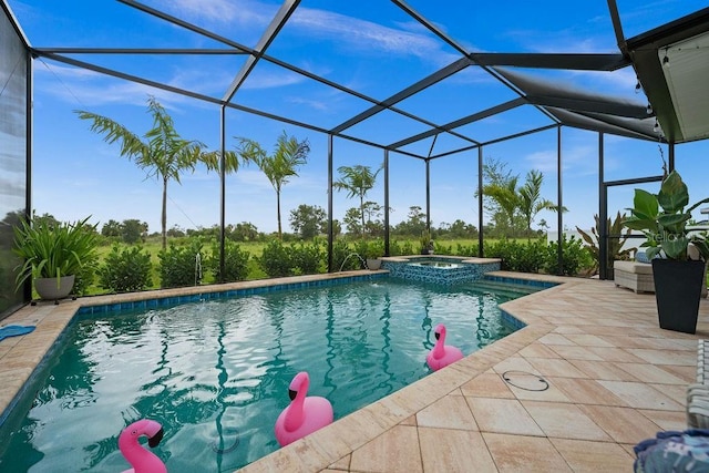
[[[709,137],[709,32],[657,53],[685,141]]]

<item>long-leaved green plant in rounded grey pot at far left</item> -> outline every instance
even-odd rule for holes
[[[32,278],[42,299],[62,299],[74,286],[84,265],[95,261],[95,226],[89,217],[75,223],[21,220],[14,229],[13,253],[24,259],[18,266],[17,289]]]

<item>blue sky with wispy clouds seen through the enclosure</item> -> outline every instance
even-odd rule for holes
[[[10,7],[29,38],[42,47],[103,48],[224,48],[210,39],[186,32],[136,9],[114,1],[10,0]],[[219,35],[254,47],[278,10],[277,1],[152,0],[145,4]],[[410,1],[463,47],[477,52],[617,52],[606,2],[503,2]],[[618,1],[627,38],[706,7],[700,1]],[[388,1],[304,0],[267,54],[377,100],[425,78],[460,58],[446,45]],[[101,55],[75,58],[97,65],[141,74],[151,80],[222,97],[244,63],[244,55],[165,58]],[[146,113],[148,94],[169,111],[184,137],[199,140],[212,148],[219,144],[219,110],[216,105],[179,96],[142,84],[76,69],[49,59],[34,61],[34,161],[33,207],[60,219],[92,215],[103,225],[109,219],[138,218],[160,230],[161,184],[146,179],[135,164],[119,155],[89,131],[89,123],[74,110],[110,116],[135,133],[151,126]],[[577,89],[646,102],[636,93],[631,68],[613,73],[523,70],[531,75],[564,82]],[[476,68],[467,68],[398,106],[436,124],[463,117],[516,95]],[[335,91],[273,63],[260,61],[235,102],[317,126],[329,128],[367,110],[370,104]],[[551,122],[531,106],[523,106],[461,128],[480,141],[522,132]],[[311,153],[299,177],[284,187],[284,227],[290,209],[299,204],[327,208],[327,136],[256,115],[227,112],[227,147],[234,136],[246,136],[273,150],[286,131],[308,138]],[[348,133],[380,143],[392,143],[427,127],[393,112],[382,112]],[[564,216],[567,228],[593,226],[598,204],[597,134],[563,128]],[[441,136],[434,154],[453,150],[461,141]],[[661,173],[657,143],[606,135],[606,179],[623,179]],[[409,150],[427,154],[431,140]],[[707,143],[676,147],[678,171],[690,186],[690,202],[705,197]],[[530,169],[545,175],[543,196],[556,199],[556,131],[513,140],[484,148],[485,158],[508,163],[524,178]],[[383,152],[347,140],[335,141],[335,166],[363,164],[373,168]],[[463,219],[477,224],[473,193],[477,183],[477,152],[443,157],[431,163],[431,217],[434,225]],[[409,207],[425,207],[422,161],[390,155],[392,224],[407,218]],[[337,175],[336,175],[337,178]],[[254,166],[227,177],[227,223],[250,222],[261,232],[276,229],[276,195],[270,183]],[[645,186],[656,191],[657,186]],[[609,213],[631,203],[633,188],[613,189]],[[383,204],[380,178],[368,198]],[[357,206],[345,193],[335,194],[335,217]],[[697,218],[700,215],[697,213]],[[540,219],[555,225],[554,214]],[[194,228],[219,222],[219,182],[216,174],[198,168],[185,174],[182,185],[168,186],[167,226]],[[536,225],[535,225],[536,227]]]

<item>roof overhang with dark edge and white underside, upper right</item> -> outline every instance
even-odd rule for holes
[[[709,137],[709,8],[626,42],[665,138]]]

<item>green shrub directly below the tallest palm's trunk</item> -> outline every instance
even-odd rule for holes
[[[202,241],[191,238],[187,246],[178,247],[169,244],[162,250],[160,258],[161,287],[183,287],[197,285],[202,280],[202,271],[197,260],[202,260]],[[199,256],[197,256],[199,255]]]

